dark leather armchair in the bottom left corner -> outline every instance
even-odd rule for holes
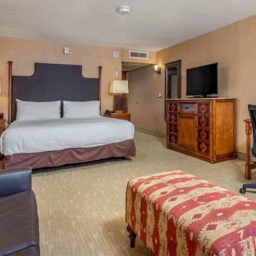
[[[0,255],[40,255],[31,168],[0,170]]]

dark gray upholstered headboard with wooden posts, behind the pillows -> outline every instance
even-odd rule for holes
[[[11,70],[12,71],[12,70]],[[10,76],[11,121],[16,116],[16,99],[27,101],[100,100],[99,78],[82,76],[82,66],[35,63],[32,76]]]

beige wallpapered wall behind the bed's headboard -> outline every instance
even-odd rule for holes
[[[72,54],[63,54],[63,47],[70,46]],[[119,57],[112,56],[113,50],[119,51]],[[40,41],[0,36],[0,112],[7,117],[8,109],[8,66],[13,61],[14,75],[32,75],[35,62],[69,63],[82,65],[83,76],[98,77],[98,66],[102,66],[102,111],[113,109],[113,98],[109,95],[109,84],[112,79],[121,79],[122,49],[76,45],[55,41]],[[114,71],[118,76],[114,76]]]

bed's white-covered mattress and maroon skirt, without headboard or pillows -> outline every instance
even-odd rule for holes
[[[0,138],[5,168],[135,156],[134,125],[108,117],[14,121]]]

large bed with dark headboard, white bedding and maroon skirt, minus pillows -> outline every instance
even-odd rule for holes
[[[41,168],[135,156],[131,122],[101,117],[100,107],[98,116],[78,118],[76,113],[83,115],[84,109],[76,106],[72,118],[62,118],[65,102],[67,106],[68,102],[78,102],[79,106],[80,102],[97,101],[100,106],[101,67],[99,78],[85,78],[81,73],[78,65],[36,63],[32,76],[13,76],[9,62],[10,126],[0,138],[5,168]],[[18,103],[31,101],[55,105],[61,101],[59,118],[19,120]]]

